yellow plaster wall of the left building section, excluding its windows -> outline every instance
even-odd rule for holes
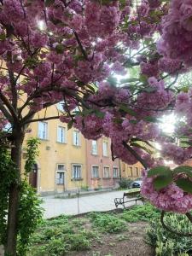
[[[47,110],[47,116],[56,116],[58,110],[51,107]],[[39,117],[44,117],[44,112],[39,114]],[[80,145],[73,145],[73,131],[67,131],[67,125],[61,123],[59,119],[52,119],[47,121],[48,124],[48,137],[47,139],[40,139],[39,156],[37,158],[38,164],[38,192],[41,194],[63,192],[64,190],[73,190],[85,186],[86,180],[86,155],[85,155],[85,140],[80,134]],[[66,131],[66,142],[57,142],[57,127],[61,126]],[[32,131],[26,134],[26,139],[29,137],[38,137],[38,123],[30,125]],[[25,146],[24,146],[25,147]],[[64,184],[56,184],[57,165],[62,164],[65,166]],[[73,164],[81,166],[81,179],[72,178]],[[23,162],[24,165],[24,162]]]

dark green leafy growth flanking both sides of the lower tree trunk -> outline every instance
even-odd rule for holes
[[[36,145],[34,145],[36,149]],[[32,155],[29,155],[32,158]],[[35,155],[34,155],[35,156]],[[33,159],[32,159],[33,160]],[[7,212],[9,186],[17,180],[15,164],[12,162],[8,148],[0,147],[0,243],[7,242]],[[18,238],[17,253],[20,256],[26,255],[29,246],[29,238],[37,229],[43,217],[43,209],[40,207],[41,201],[38,199],[36,191],[26,182],[17,181],[20,187],[20,205],[18,210]]]

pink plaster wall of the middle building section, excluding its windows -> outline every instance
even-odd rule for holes
[[[108,143],[108,155],[103,155],[103,143]],[[96,141],[96,154],[93,154],[92,141],[86,140],[86,155],[87,155],[87,181],[90,189],[112,188],[119,183],[118,177],[113,177],[113,167],[118,168],[119,173],[119,160],[112,160],[110,150],[110,140],[102,137]],[[98,166],[99,177],[94,177],[93,167]],[[109,177],[104,177],[104,167],[109,168]]]

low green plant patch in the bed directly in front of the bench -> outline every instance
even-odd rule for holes
[[[160,211],[150,204],[131,207],[121,214],[121,218],[127,222],[149,221],[158,217],[160,217]]]

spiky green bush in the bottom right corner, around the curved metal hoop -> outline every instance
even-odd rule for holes
[[[192,233],[192,225],[184,215],[167,214],[165,222],[172,230]],[[192,238],[168,232],[162,227],[160,218],[154,218],[150,223],[146,241],[154,247],[157,256],[192,255]]]

